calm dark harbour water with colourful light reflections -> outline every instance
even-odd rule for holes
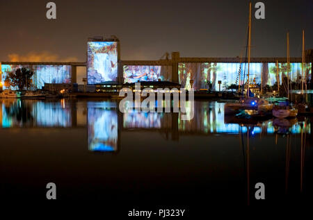
[[[110,100],[1,100],[1,198],[104,203],[298,203],[312,193],[309,117],[225,118],[195,101],[195,117],[122,114]],[[264,183],[266,200],[255,200]],[[301,192],[302,191],[302,192]]]

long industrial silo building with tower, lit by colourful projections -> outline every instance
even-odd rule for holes
[[[302,58],[290,58],[291,81],[306,77],[312,81],[312,49]],[[248,65],[242,58],[182,58],[179,52],[167,54],[161,60],[120,60],[120,42],[94,37],[88,39],[86,62],[1,62],[1,85],[8,71],[26,67],[34,71],[33,90],[58,88],[71,92],[118,92],[125,84],[138,81],[163,81],[179,84],[189,90],[228,90],[232,84],[247,81]],[[85,85],[77,83],[77,67],[86,67]],[[303,70],[304,69],[304,70]],[[302,73],[302,71],[304,71]],[[287,74],[287,58],[251,58],[250,83],[274,85]],[[304,76],[302,76],[304,75]],[[49,83],[49,86],[45,84]],[[53,86],[53,84],[59,84]],[[67,85],[70,84],[71,86]],[[47,84],[48,85],[48,84]],[[87,89],[88,88],[88,89]]]

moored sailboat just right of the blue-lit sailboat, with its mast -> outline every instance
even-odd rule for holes
[[[278,68],[278,62],[277,62]],[[298,109],[294,108],[289,102],[289,74],[290,74],[290,55],[289,55],[289,32],[287,33],[287,95],[288,99],[284,101],[276,101],[273,106],[273,116],[277,118],[296,117]]]

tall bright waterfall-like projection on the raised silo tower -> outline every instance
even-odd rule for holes
[[[117,81],[118,42],[88,42],[88,84]]]

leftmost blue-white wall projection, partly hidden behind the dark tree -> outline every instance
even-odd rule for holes
[[[70,65],[1,65],[1,80],[4,82],[6,76],[11,71],[16,71],[19,68],[25,67],[34,72],[31,80],[33,81],[31,89],[40,90],[45,83],[71,83],[72,68]],[[4,86],[3,89],[9,87]],[[17,88],[10,87],[11,90]]]

